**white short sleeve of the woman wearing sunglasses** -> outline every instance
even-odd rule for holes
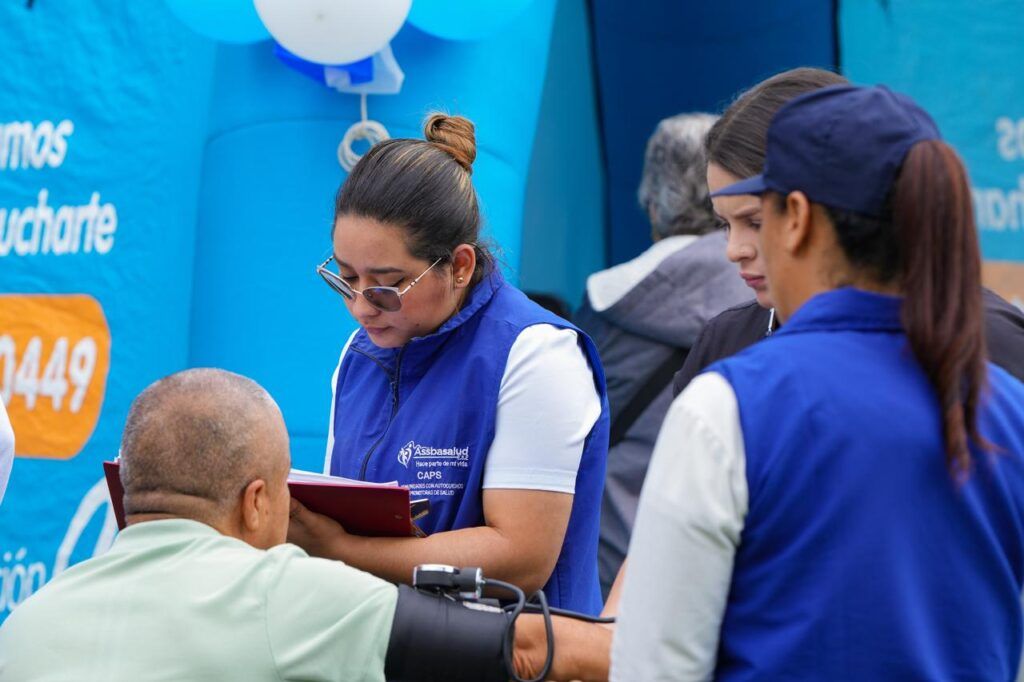
[[[527,327],[509,350],[483,487],[574,493],[584,444],[600,416],[577,333]]]

